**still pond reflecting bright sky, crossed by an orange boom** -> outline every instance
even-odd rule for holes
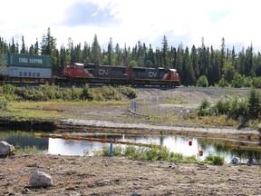
[[[50,133],[53,134],[53,133]],[[196,155],[198,159],[204,160],[208,153],[215,155],[220,154],[225,157],[226,162],[230,162],[233,157],[238,157],[241,162],[261,163],[261,145],[260,143],[232,142],[223,140],[214,140],[208,138],[191,138],[177,135],[146,135],[134,136],[128,134],[110,134],[95,132],[63,132],[68,135],[69,139],[50,137],[35,137],[34,132],[21,131],[0,131],[0,141],[9,142],[10,144],[24,146],[36,146],[37,149],[43,150],[50,154],[61,155],[92,155],[93,151],[100,151],[104,145],[110,143],[90,142],[86,140],[72,140],[73,135],[82,138],[105,139],[118,142],[134,142],[144,144],[159,144],[166,146],[169,152],[179,152],[186,156]],[[190,145],[189,145],[190,143]],[[122,145],[113,143],[113,146]],[[198,152],[203,151],[203,156],[199,156]]]

